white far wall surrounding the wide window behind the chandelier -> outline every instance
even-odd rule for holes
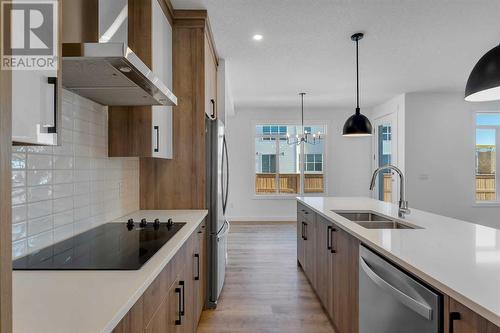
[[[306,109],[305,119],[325,121],[327,140],[327,195],[368,196],[371,176],[371,141],[368,138],[344,138],[342,127],[354,110]],[[238,109],[226,118],[230,162],[228,218],[237,220],[294,220],[293,198],[262,199],[255,196],[255,122],[295,121],[299,109]]]

